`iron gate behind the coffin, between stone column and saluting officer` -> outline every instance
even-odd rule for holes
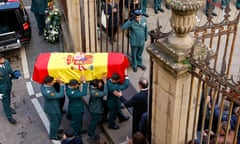
[[[96,7],[98,9],[97,14],[97,36],[98,36],[98,47],[99,52],[111,52],[117,51],[125,54],[129,54],[129,41],[128,41],[128,31],[121,30],[121,25],[125,20],[129,18],[131,8],[135,9],[140,7],[139,3],[132,5],[130,0],[113,0],[109,2],[108,0],[96,0]],[[111,37],[109,33],[114,32],[114,27],[109,25],[109,19],[113,21],[113,14],[106,13],[105,9],[108,9],[109,3],[115,5],[117,8],[117,33],[113,37],[114,41],[111,42]],[[132,5],[132,6],[131,6]],[[111,17],[111,18],[110,18]]]

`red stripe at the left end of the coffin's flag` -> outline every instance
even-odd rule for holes
[[[40,54],[35,62],[32,79],[40,84],[48,76],[48,61],[51,53]]]

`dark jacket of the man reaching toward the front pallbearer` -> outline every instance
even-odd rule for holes
[[[121,97],[121,101],[126,107],[133,107],[133,133],[138,131],[138,125],[144,112],[148,107],[148,89],[141,90],[135,94],[130,100]]]

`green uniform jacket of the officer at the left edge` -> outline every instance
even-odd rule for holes
[[[0,93],[5,94],[12,88],[12,68],[8,60],[4,62],[4,68],[0,68]]]

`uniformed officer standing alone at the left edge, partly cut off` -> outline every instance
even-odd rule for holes
[[[2,106],[8,121],[11,124],[16,124],[17,121],[12,117],[12,114],[16,114],[16,111],[10,107],[13,78],[18,78],[18,76],[14,75],[9,61],[0,53],[0,97],[2,98]]]

